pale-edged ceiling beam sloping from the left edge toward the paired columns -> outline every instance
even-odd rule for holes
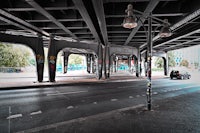
[[[36,26],[29,24],[28,22],[26,22],[26,21],[14,16],[14,15],[8,13],[7,11],[4,11],[3,9],[0,9],[0,14],[5,16],[5,18],[12,19],[12,22],[13,22],[12,24],[13,25],[14,25],[14,23],[17,22],[18,25],[26,26],[27,28],[29,28],[29,30],[33,30],[35,32],[39,32],[40,34],[45,35],[45,36],[49,36],[49,33],[45,32],[44,30],[41,30],[41,29],[37,28]]]

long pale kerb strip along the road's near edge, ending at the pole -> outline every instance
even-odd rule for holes
[[[121,108],[121,109],[112,110],[112,111],[108,111],[108,112],[104,112],[104,113],[99,113],[99,114],[96,114],[96,115],[80,117],[80,118],[76,118],[76,119],[72,119],[72,120],[68,120],[68,121],[44,125],[44,126],[41,126],[41,127],[27,129],[27,130],[19,131],[19,132],[16,132],[16,133],[42,132],[42,131],[48,130],[48,129],[59,128],[60,126],[65,126],[66,124],[75,123],[75,122],[84,122],[84,121],[89,120],[89,119],[98,119],[100,117],[109,117],[110,115],[113,115],[115,113],[128,111],[128,110],[134,110],[134,109],[142,108],[142,107],[145,107],[145,105],[144,104],[138,104],[138,105],[135,105],[135,106],[132,106],[132,107]]]

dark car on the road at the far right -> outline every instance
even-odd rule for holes
[[[191,75],[186,71],[178,71],[178,70],[172,70],[170,73],[170,78],[176,78],[176,79],[190,79]]]

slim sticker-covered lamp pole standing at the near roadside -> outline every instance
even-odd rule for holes
[[[151,15],[151,13],[150,13]],[[151,110],[151,96],[152,96],[152,87],[151,87],[151,58],[152,58],[152,18],[148,18],[148,45],[147,45],[147,109]]]

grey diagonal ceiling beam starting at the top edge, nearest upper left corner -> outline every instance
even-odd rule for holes
[[[62,30],[64,30],[67,34],[71,35],[73,38],[77,39],[76,35],[74,35],[69,29],[67,29],[62,23],[60,23],[56,18],[54,18],[50,13],[48,13],[44,8],[42,8],[38,3],[36,3],[34,0],[25,0],[29,5],[34,7],[37,12],[41,13],[45,17],[47,17],[49,20],[51,20],[53,23],[55,23],[58,27],[60,27]]]

